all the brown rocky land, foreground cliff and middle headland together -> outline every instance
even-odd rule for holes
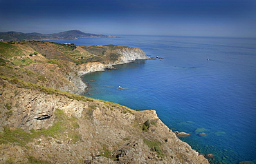
[[[80,76],[147,59],[138,48],[0,43],[0,163],[208,163],[153,110],[80,96]],[[71,93],[72,92],[72,93]]]

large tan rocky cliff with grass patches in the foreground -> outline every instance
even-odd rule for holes
[[[208,163],[153,110],[0,83],[0,163]]]

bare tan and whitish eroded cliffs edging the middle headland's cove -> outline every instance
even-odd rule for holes
[[[82,94],[86,89],[86,84],[82,81],[81,76],[90,72],[104,71],[106,68],[113,69],[113,65],[129,63],[136,59],[149,59],[145,52],[139,48],[121,48],[116,50],[122,54],[120,59],[114,63],[84,63],[76,65],[71,61],[63,61],[60,65],[51,63],[31,63],[26,69],[32,70],[37,74],[45,76],[44,81],[39,81],[40,85],[49,88],[55,88],[64,92]]]

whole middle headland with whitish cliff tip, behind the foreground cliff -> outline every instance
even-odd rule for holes
[[[12,69],[24,68],[17,75],[22,80],[38,83],[64,92],[82,94],[86,85],[81,76],[89,72],[104,71],[113,65],[129,63],[136,59],[149,59],[139,48],[118,45],[93,45],[89,47],[49,43],[46,41],[0,42],[0,57],[15,63]],[[5,68],[6,69],[6,68]],[[27,70],[33,74],[30,78]],[[13,72],[12,70],[8,70]],[[3,71],[3,75],[12,73]],[[6,72],[6,73],[5,73]],[[35,78],[37,74],[37,78]]]

